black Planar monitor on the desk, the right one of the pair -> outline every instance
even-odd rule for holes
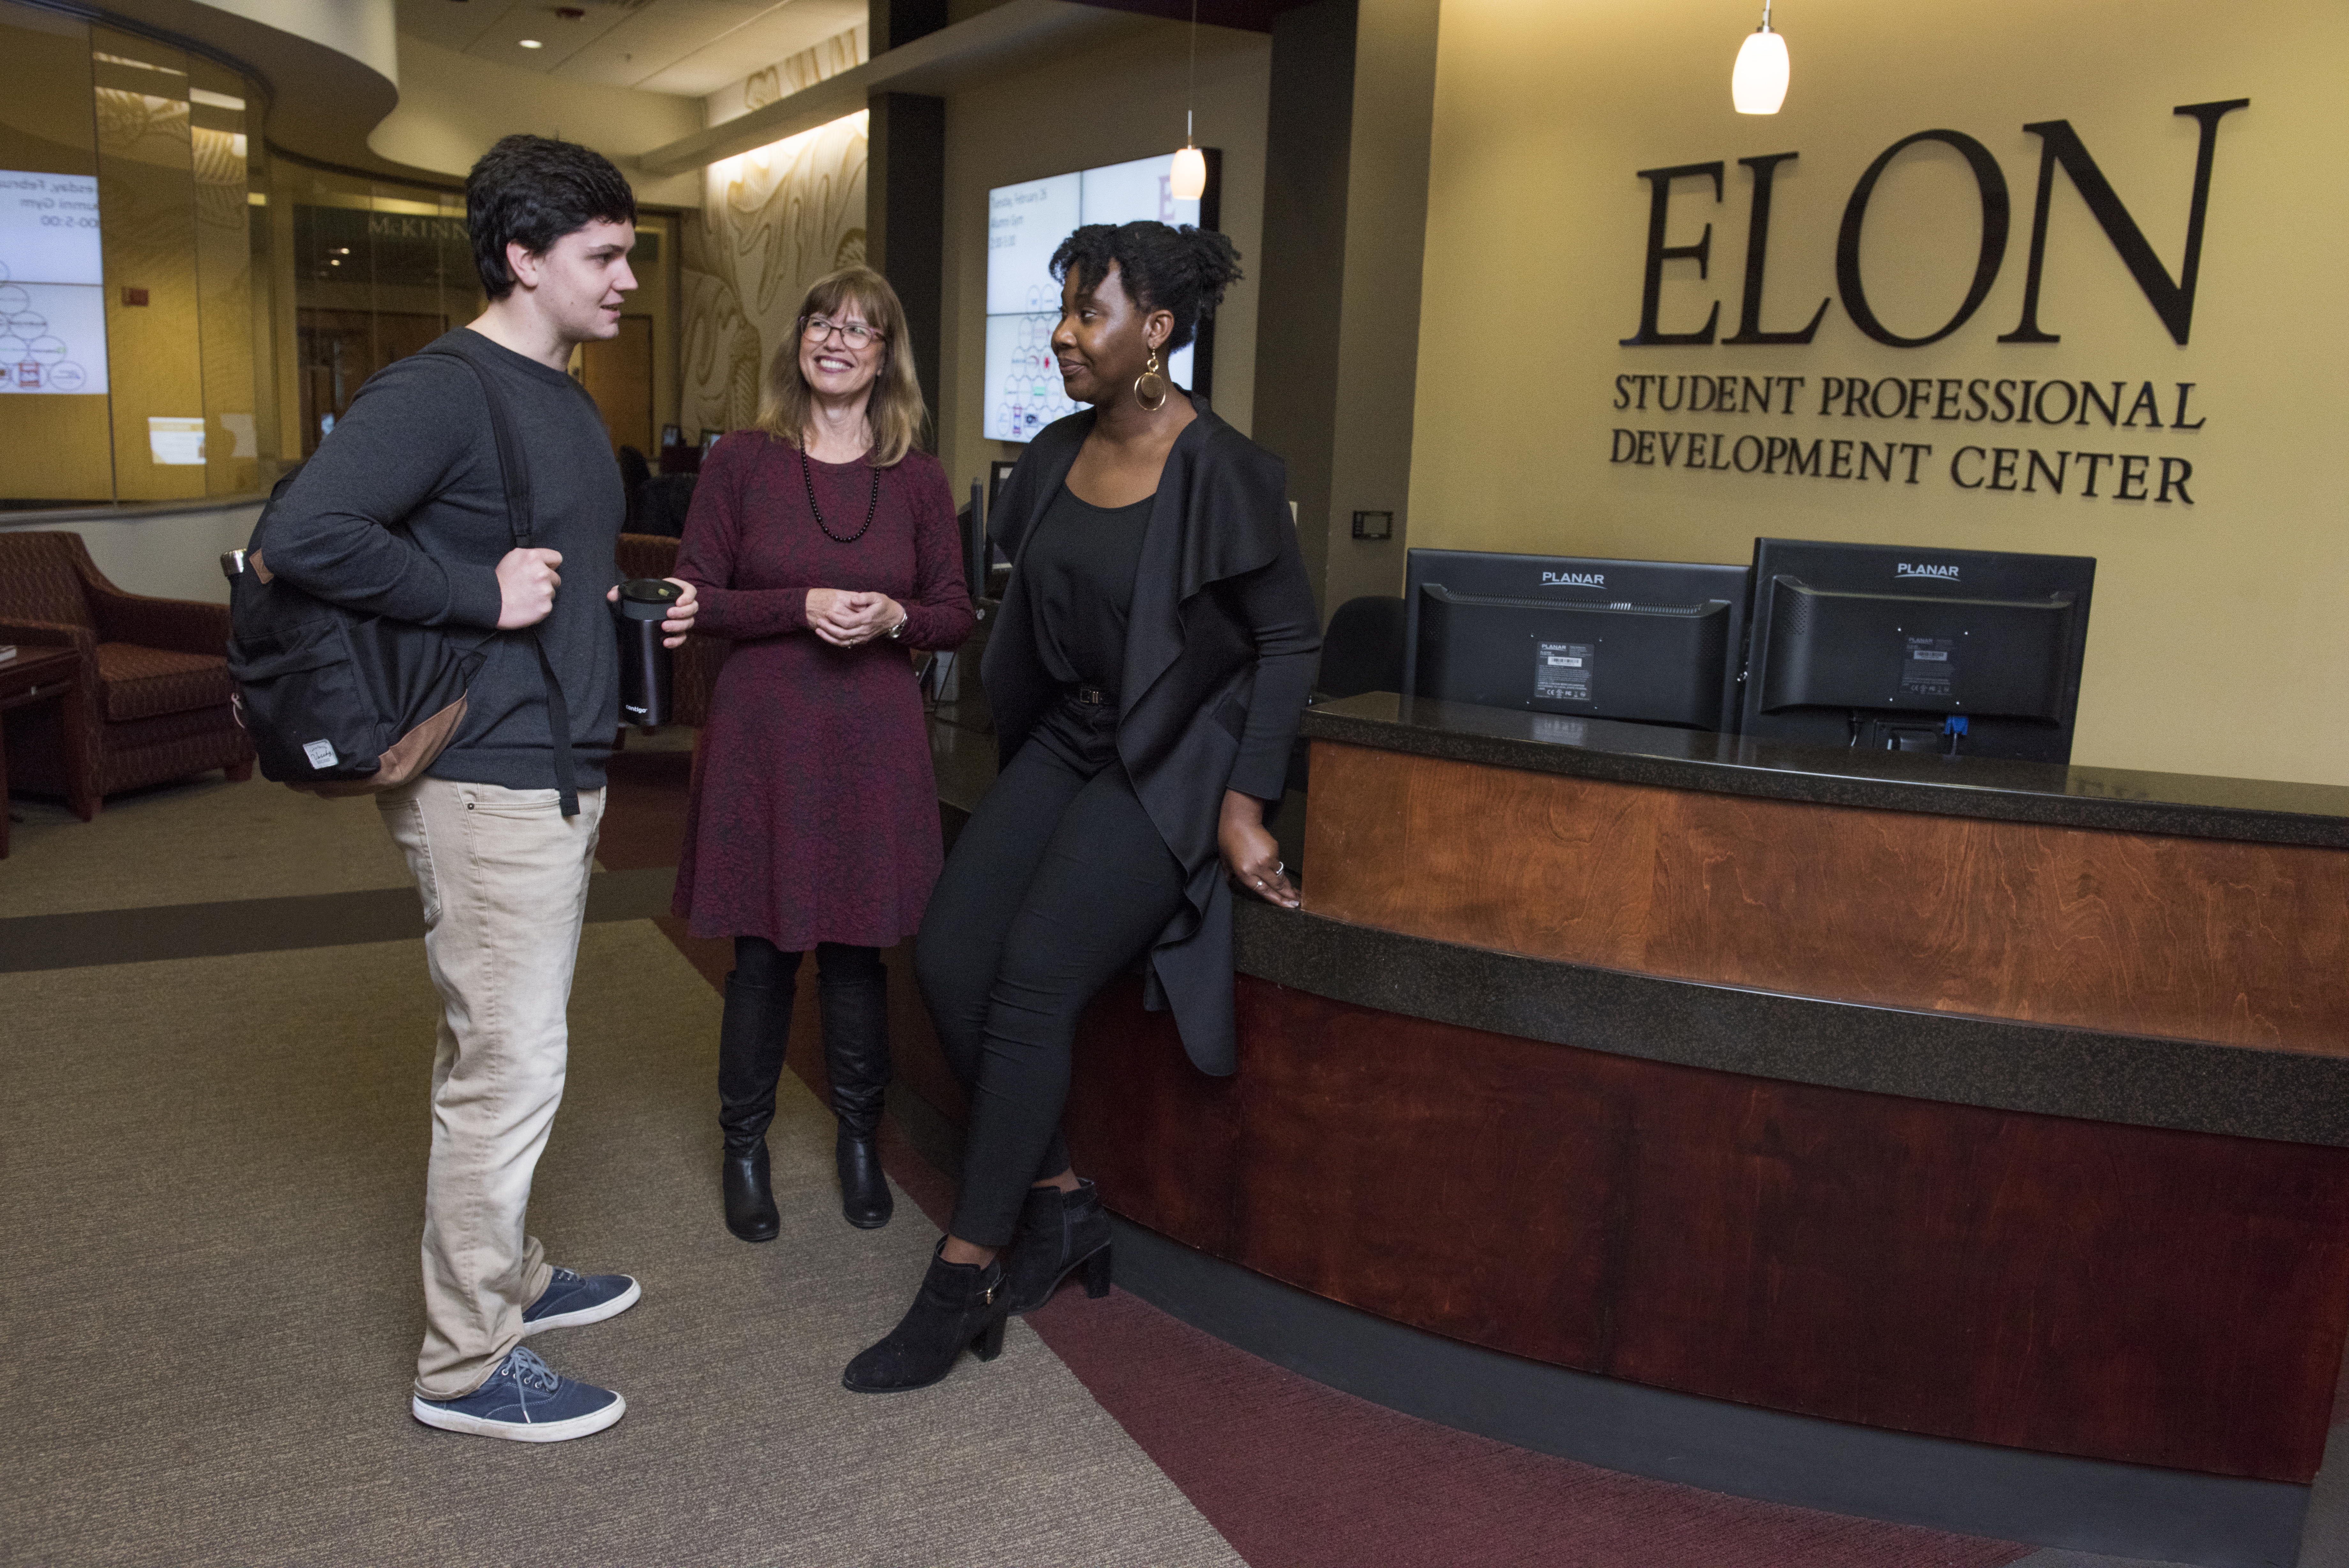
[[[1738,726],[2069,762],[2093,585],[2086,555],[1757,538]]]

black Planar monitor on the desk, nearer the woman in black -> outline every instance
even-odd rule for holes
[[[1412,550],[1402,684],[1485,708],[1736,724],[1745,567]]]

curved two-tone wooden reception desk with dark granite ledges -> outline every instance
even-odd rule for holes
[[[2349,1338],[2349,790],[1384,693],[1304,731],[1238,1077],[1139,983],[1088,1016],[1120,1276],[1618,1469],[2293,1561]]]

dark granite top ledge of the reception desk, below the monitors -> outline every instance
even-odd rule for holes
[[[2349,788],[1990,757],[1851,752],[1372,691],[1301,733],[1536,773],[2189,839],[2349,849]]]

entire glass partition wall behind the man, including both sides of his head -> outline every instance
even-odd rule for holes
[[[465,197],[270,155],[261,87],[0,0],[0,512],[265,491],[359,386],[470,322]],[[613,444],[674,421],[674,235],[573,360]]]

